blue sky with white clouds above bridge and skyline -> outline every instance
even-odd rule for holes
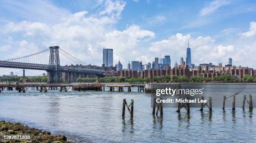
[[[0,60],[59,46],[87,64],[102,64],[102,49],[120,60],[152,62],[170,55],[171,67],[186,59],[256,68],[255,0],[1,0]],[[31,59],[49,63],[49,52]],[[25,61],[26,62],[26,61]],[[61,65],[72,64],[60,55]],[[73,63],[74,64],[74,63]],[[0,75],[22,69],[0,68]],[[26,70],[26,75],[45,71]]]

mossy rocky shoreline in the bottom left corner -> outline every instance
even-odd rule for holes
[[[24,135],[26,138],[29,136],[29,139],[4,139],[15,136],[17,138],[19,135]],[[23,136],[23,137],[24,137]],[[51,135],[49,131],[41,131],[36,128],[30,128],[24,126],[21,123],[11,123],[0,121],[0,143],[74,143],[67,141],[66,136],[64,135]]]

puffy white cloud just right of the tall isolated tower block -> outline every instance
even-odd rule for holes
[[[114,49],[114,61],[120,60],[126,64],[128,60],[139,60],[140,56],[144,55],[144,47],[140,44],[154,36],[154,32],[141,30],[138,25],[131,25],[126,30],[114,30],[106,34],[102,45]]]

